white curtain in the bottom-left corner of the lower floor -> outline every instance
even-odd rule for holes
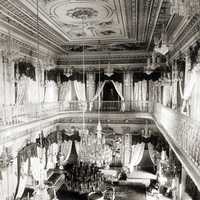
[[[2,178],[2,180],[1,180]],[[1,170],[0,197],[1,200],[12,199],[17,186],[17,159],[7,168]]]

